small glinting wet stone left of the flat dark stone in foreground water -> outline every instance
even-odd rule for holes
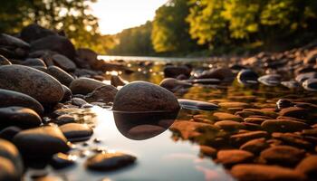
[[[71,167],[75,164],[77,157],[73,155],[66,155],[64,153],[57,153],[53,155],[50,165],[55,169],[62,169]]]

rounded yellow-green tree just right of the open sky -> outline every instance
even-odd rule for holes
[[[189,52],[197,49],[185,21],[189,12],[187,0],[170,0],[156,11],[151,33],[156,52]]]

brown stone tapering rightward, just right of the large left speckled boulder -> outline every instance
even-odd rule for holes
[[[70,85],[70,89],[72,90],[73,94],[83,94],[86,95],[90,93],[91,91],[100,88],[102,86],[105,86],[107,84],[93,80],[90,78],[79,78],[74,81],[72,81]]]

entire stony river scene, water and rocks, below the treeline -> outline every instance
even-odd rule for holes
[[[316,43],[105,62],[33,24],[0,54],[0,180],[316,178]]]

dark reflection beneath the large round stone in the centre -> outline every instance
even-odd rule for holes
[[[113,112],[120,133],[126,138],[134,140],[144,140],[158,136],[174,123],[177,116],[178,111]]]

